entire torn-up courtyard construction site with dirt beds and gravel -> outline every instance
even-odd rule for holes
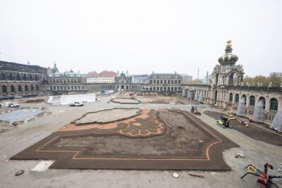
[[[88,97],[75,107],[48,96],[16,100],[20,107],[9,111],[2,103],[1,184],[257,187],[257,177],[241,179],[245,167],[267,163],[269,181],[282,185],[271,179],[282,175],[281,113],[267,126],[261,104],[252,120],[242,116],[244,101],[231,113],[182,96]]]

